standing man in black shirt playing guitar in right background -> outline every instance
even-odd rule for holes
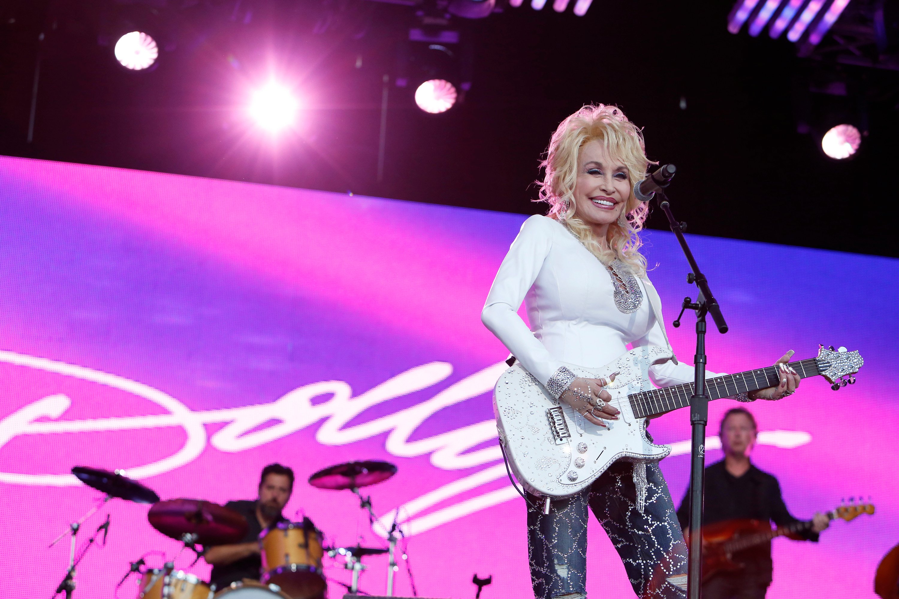
[[[778,526],[799,522],[784,505],[778,480],[750,462],[757,432],[755,418],[744,408],[728,410],[721,419],[718,434],[725,459],[706,468],[703,525],[726,520],[773,521]],[[681,501],[677,515],[686,533],[690,524],[689,491]],[[790,536],[817,541],[818,533],[828,524],[826,515],[815,514],[810,530]],[[771,584],[770,541],[736,552],[733,559],[744,564],[744,568],[710,578],[702,586],[704,599],[763,599]]]

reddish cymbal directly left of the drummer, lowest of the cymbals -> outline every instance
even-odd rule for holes
[[[200,545],[224,545],[244,538],[248,524],[233,509],[202,499],[169,499],[150,508],[147,520],[160,533],[182,540],[197,535]]]

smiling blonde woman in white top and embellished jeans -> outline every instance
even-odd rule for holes
[[[549,205],[547,216],[531,216],[521,226],[481,315],[547,392],[598,426],[618,419],[602,388],[609,382],[578,378],[564,363],[604,366],[628,344],[671,348],[639,251],[647,207],[633,188],[648,164],[640,129],[619,108],[584,106],[563,120],[542,163],[540,199]],[[530,329],[517,314],[522,301]],[[659,385],[689,383],[693,367],[672,359],[652,366],[651,375]],[[779,386],[750,395],[779,399],[798,384],[798,375],[781,367]],[[615,462],[582,493],[553,501],[548,515],[537,498],[528,504],[538,599],[587,596],[588,507],[609,534],[637,596],[686,596],[687,547],[657,463]]]

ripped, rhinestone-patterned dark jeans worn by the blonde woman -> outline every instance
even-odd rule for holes
[[[657,463],[646,465],[645,508],[636,508],[633,466],[615,462],[582,493],[552,502],[529,496],[528,553],[537,599],[587,596],[587,507],[609,534],[640,599],[687,596],[687,545]]]

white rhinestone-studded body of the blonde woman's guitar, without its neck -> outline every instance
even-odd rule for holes
[[[535,495],[563,498],[588,487],[617,460],[658,462],[670,445],[655,445],[645,433],[646,418],[637,418],[628,395],[653,389],[649,366],[672,357],[664,348],[634,348],[601,368],[566,364],[577,376],[608,379],[610,403],[621,413],[598,427],[556,400],[516,362],[494,389],[494,416],[500,443],[515,478]]]

